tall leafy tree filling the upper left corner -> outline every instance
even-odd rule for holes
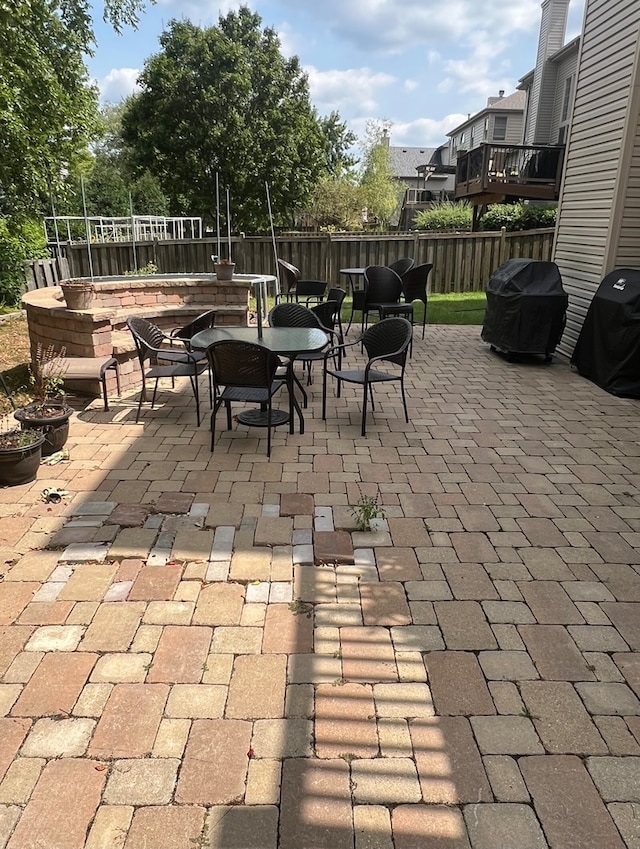
[[[108,0],[105,18],[137,22],[141,0]],[[0,213],[39,211],[61,195],[96,129],[84,64],[94,43],[86,0],[0,2]]]

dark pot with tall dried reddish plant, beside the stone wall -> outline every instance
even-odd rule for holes
[[[35,428],[44,434],[43,457],[60,451],[69,436],[73,407],[65,403],[62,394],[65,353],[64,348],[58,352],[52,345],[38,345],[29,378],[33,401],[18,407],[13,414],[23,430]]]

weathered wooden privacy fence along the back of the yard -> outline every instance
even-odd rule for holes
[[[281,259],[292,262],[311,280],[345,285],[341,268],[388,265],[411,256],[416,265],[433,263],[431,292],[483,291],[492,272],[516,257],[550,260],[553,228],[507,233],[314,233],[277,237]],[[61,246],[71,277],[90,277],[86,243]],[[122,275],[153,263],[159,274],[213,272],[215,239],[105,242],[91,245],[93,276]],[[275,274],[270,236],[232,238],[232,256],[238,273]]]

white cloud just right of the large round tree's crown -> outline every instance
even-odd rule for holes
[[[309,75],[311,99],[320,114],[348,110],[362,115],[375,112],[376,95],[397,82],[391,74],[371,68],[350,68],[346,71],[319,71],[312,65],[305,68]]]

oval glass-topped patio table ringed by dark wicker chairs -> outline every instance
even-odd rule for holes
[[[191,339],[191,346],[204,351],[216,342],[229,340],[254,342],[274,354],[291,360],[287,373],[289,408],[292,413],[295,407],[300,422],[300,433],[304,433],[304,416],[293,389],[293,361],[302,354],[314,354],[316,351],[321,351],[329,342],[327,334],[316,327],[262,327],[260,336],[257,327],[212,327],[196,333]],[[293,417],[291,427],[293,427]]]

